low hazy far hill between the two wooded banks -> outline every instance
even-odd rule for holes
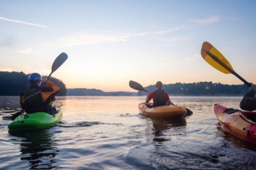
[[[67,96],[136,96],[137,92],[104,92],[98,89],[73,88],[67,90]]]

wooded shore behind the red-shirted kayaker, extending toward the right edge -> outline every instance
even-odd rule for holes
[[[146,90],[155,91],[155,85],[145,87]],[[245,84],[228,85],[212,82],[175,83],[164,84],[163,89],[172,96],[243,96],[249,90]],[[147,95],[139,91],[138,96]]]

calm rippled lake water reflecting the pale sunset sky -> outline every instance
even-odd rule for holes
[[[223,132],[215,103],[242,97],[171,97],[194,112],[180,120],[138,114],[145,97],[57,97],[60,124],[8,132],[18,97],[0,97],[0,169],[255,169],[256,146]]]

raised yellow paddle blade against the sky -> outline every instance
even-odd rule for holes
[[[209,53],[207,54],[207,52],[210,52],[211,54],[216,56],[219,60],[222,61],[222,64],[226,64],[226,67],[229,68],[229,70],[227,70],[225,67],[223,67],[220,63],[218,63],[214,59],[212,59],[212,57],[210,57],[208,55]],[[202,49],[201,49],[201,55],[203,59],[206,62],[208,62],[208,64],[210,64],[215,69],[221,71],[222,73],[230,74],[231,73],[230,71],[234,71],[231,64],[228,62],[228,60],[214,46],[212,46],[208,42],[203,43]]]

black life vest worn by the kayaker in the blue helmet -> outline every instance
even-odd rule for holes
[[[39,87],[24,91],[24,109],[27,113],[47,112]]]

